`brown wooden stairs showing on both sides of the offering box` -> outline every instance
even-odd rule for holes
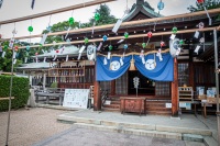
[[[170,103],[168,100],[146,100],[145,110],[146,114],[155,115],[172,115],[172,109],[166,108],[166,103]],[[119,98],[109,98],[106,103],[102,105],[102,111],[108,112],[120,112],[120,99]]]

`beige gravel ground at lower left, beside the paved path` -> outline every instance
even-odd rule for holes
[[[56,121],[65,112],[42,108],[11,111],[9,146],[30,146],[72,127]],[[0,112],[0,146],[6,145],[7,124],[8,112]]]

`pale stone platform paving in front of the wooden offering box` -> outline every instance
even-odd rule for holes
[[[92,110],[81,110],[77,112],[66,112],[58,115],[58,119],[90,119],[97,121],[112,121],[118,123],[135,123],[135,124],[147,124],[147,125],[163,125],[173,127],[186,127],[186,128],[198,128],[198,130],[210,130],[217,131],[217,116],[209,115],[205,119],[201,115],[195,116],[194,114],[183,114],[179,119],[172,119],[170,116],[163,115],[142,115],[138,114],[121,114],[119,112],[96,112]]]

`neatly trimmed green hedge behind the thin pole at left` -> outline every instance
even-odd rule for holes
[[[10,80],[11,76],[0,76],[0,98],[9,97],[10,94]],[[11,108],[19,109],[26,104],[29,99],[29,79],[23,77],[13,77],[13,88],[11,100]],[[0,111],[9,109],[9,100],[0,101]]]

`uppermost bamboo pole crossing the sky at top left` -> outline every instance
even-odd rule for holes
[[[62,8],[62,9],[56,9],[56,10],[52,10],[52,11],[47,11],[47,12],[33,14],[33,15],[28,15],[28,16],[22,16],[22,18],[18,18],[18,19],[1,21],[0,25],[8,24],[8,23],[20,22],[20,21],[25,21],[25,20],[31,20],[31,19],[36,19],[36,18],[51,15],[51,14],[55,14],[55,13],[61,13],[61,12],[66,12],[66,11],[70,11],[70,10],[76,10],[76,9],[80,9],[80,8],[87,8],[87,7],[97,5],[97,4],[111,2],[111,1],[116,1],[116,0],[94,0],[94,1],[85,2],[85,3],[74,4],[74,5],[70,5],[70,7],[65,7],[65,8]]]

